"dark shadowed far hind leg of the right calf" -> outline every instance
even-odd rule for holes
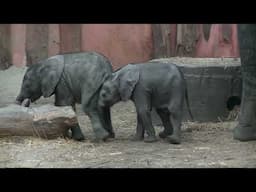
[[[164,109],[156,109],[156,112],[161,118],[164,126],[164,130],[159,133],[159,137],[164,139],[173,133],[173,127],[170,122],[170,112]]]

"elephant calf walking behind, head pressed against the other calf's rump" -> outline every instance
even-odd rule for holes
[[[113,73],[112,79],[103,84],[99,105],[112,106],[118,101],[131,99],[137,111],[134,139],[144,139],[144,142],[157,140],[151,120],[154,107],[164,125],[164,131],[159,136],[170,143],[179,144],[184,98],[189,108],[186,90],[183,74],[174,64],[128,64]],[[144,130],[147,133],[145,138]]]

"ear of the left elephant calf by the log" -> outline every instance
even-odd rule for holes
[[[42,66],[41,70],[41,89],[44,97],[50,97],[63,72],[64,61],[61,56],[47,59]]]

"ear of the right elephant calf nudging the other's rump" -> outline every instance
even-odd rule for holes
[[[127,68],[127,71],[120,77],[119,92],[122,101],[130,99],[135,85],[139,81],[139,70],[136,67]]]

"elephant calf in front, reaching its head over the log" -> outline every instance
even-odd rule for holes
[[[70,105],[75,110],[75,103],[81,103],[91,120],[95,141],[105,140],[114,137],[114,132],[110,108],[98,106],[98,95],[112,71],[110,61],[96,52],[56,55],[27,69],[16,103],[21,104],[25,99],[34,102],[53,94],[56,106]],[[73,139],[84,139],[79,125],[71,131]]]

